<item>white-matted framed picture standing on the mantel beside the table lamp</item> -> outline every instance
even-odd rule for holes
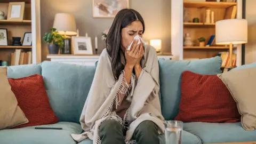
[[[73,54],[93,54],[91,37],[73,36]]]

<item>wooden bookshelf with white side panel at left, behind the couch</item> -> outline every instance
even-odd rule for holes
[[[21,19],[7,18],[11,12],[10,3],[13,2],[25,3]],[[0,20],[0,30],[7,29],[7,45],[0,45],[0,60],[7,61],[8,66],[41,62],[40,0],[1,0],[0,11],[5,13],[4,19]],[[25,33],[31,33],[31,45],[22,46]],[[13,45],[13,37],[20,37],[21,45]],[[17,58],[16,63],[13,57]]]

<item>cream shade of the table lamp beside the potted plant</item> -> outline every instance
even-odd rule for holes
[[[61,35],[76,35],[75,17],[68,13],[55,14],[53,28],[56,28]]]

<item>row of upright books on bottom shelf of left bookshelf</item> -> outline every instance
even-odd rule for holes
[[[17,65],[27,65],[32,63],[32,52],[22,51],[21,49],[16,49],[15,52],[11,54],[11,66]]]

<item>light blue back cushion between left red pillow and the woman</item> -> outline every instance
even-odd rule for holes
[[[94,73],[94,66],[52,61],[42,63],[46,92],[59,121],[79,123]]]

